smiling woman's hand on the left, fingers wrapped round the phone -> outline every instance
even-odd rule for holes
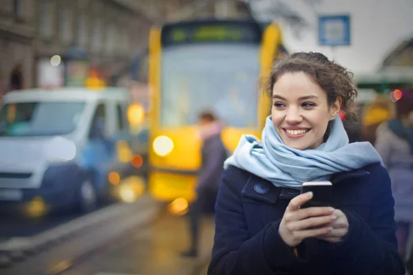
[[[294,248],[306,238],[328,234],[332,223],[337,219],[332,215],[334,208],[310,207],[300,209],[300,206],[313,198],[312,192],[306,192],[291,199],[279,223],[279,236],[290,247]]]

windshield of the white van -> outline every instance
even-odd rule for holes
[[[15,102],[0,110],[0,136],[66,135],[76,129],[85,102]]]

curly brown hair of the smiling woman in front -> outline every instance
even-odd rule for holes
[[[277,80],[286,73],[303,72],[326,92],[327,102],[331,106],[337,98],[341,98],[341,110],[352,118],[357,118],[354,98],[357,89],[352,82],[353,74],[345,67],[328,60],[319,52],[296,52],[276,61],[271,74],[261,82],[262,88],[271,98]]]

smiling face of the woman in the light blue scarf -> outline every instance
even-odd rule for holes
[[[328,106],[326,93],[306,74],[283,74],[273,87],[271,117],[284,144],[304,150],[324,142],[328,122],[340,111],[341,98]]]

